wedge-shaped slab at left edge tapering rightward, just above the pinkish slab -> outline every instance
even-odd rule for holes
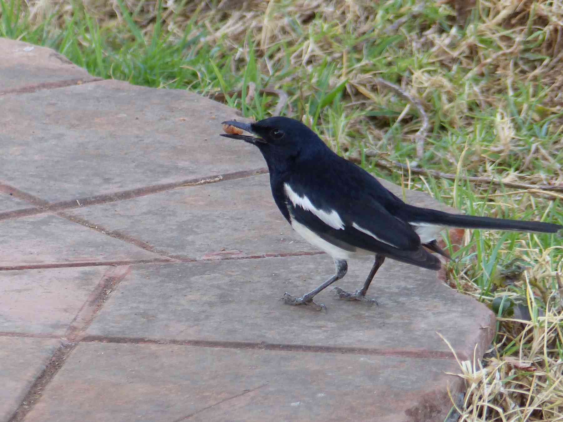
[[[0,227],[0,267],[163,259],[51,214],[1,221]]]

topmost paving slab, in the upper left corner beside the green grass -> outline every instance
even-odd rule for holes
[[[0,95],[97,79],[51,48],[0,38]]]

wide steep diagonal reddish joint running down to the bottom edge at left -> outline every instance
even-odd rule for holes
[[[51,359],[28,389],[20,406],[18,406],[10,419],[8,419],[8,422],[23,422],[25,420],[25,417],[32,411],[39,399],[41,399],[44,389],[61,370],[66,362],[66,358],[70,356],[70,353],[74,351],[85,336],[86,330],[90,324],[92,324],[96,313],[104,306],[108,295],[129,272],[131,272],[130,266],[116,267],[105,272],[100,282],[96,285],[96,288],[88,295],[88,298],[77,312],[73,321],[70,322],[64,337],[61,338],[62,343],[60,347],[52,354]],[[76,325],[76,322],[81,320],[83,320],[83,324]]]

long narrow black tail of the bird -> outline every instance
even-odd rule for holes
[[[409,223],[426,223],[436,226],[460,227],[460,228],[491,228],[493,230],[515,230],[534,231],[541,233],[555,233],[563,226],[553,223],[542,223],[539,221],[518,221],[504,218],[463,216],[449,214],[428,208],[407,205],[405,217],[408,216]],[[403,216],[401,216],[403,217]],[[403,219],[403,218],[401,218]]]

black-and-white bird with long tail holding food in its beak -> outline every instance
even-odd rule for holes
[[[274,116],[254,123],[222,122],[221,136],[258,147],[266,160],[275,204],[292,228],[310,244],[329,254],[336,272],[317,288],[293,297],[289,305],[311,305],[315,295],[346,275],[347,260],[374,255],[374,263],[360,289],[348,293],[335,287],[340,299],[377,304],[366,295],[385,258],[439,270],[440,259],[450,256],[437,244],[445,227],[482,228],[555,233],[563,226],[537,221],[451,214],[406,204],[376,177],[332,151],[299,120]],[[243,135],[248,132],[253,136]]]

